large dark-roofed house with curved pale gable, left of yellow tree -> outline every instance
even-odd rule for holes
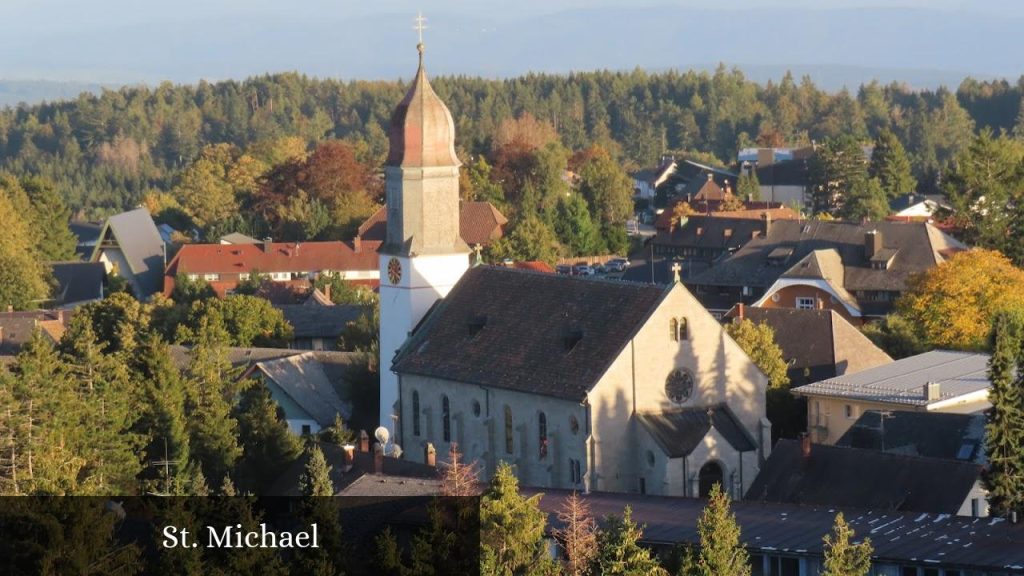
[[[863,322],[888,314],[914,274],[967,248],[927,222],[768,224],[766,234],[687,280],[713,312],[724,314],[742,302],[827,308]]]

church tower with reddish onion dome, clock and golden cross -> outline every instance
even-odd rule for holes
[[[422,23],[421,23],[422,24]],[[459,235],[459,166],[455,122],[423,68],[391,117],[384,165],[387,237],[380,249],[380,425],[398,438],[395,352],[431,305],[469,266]]]

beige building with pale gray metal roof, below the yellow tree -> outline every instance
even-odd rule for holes
[[[987,354],[932,351],[793,388],[807,398],[807,429],[835,444],[867,410],[977,414],[987,410]]]

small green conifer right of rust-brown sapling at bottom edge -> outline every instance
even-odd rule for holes
[[[633,510],[626,506],[622,518],[604,519],[597,536],[597,554],[593,561],[595,574],[613,576],[656,576],[665,574],[650,550],[640,546],[643,528],[633,522]]]

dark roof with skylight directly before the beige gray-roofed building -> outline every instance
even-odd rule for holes
[[[985,415],[868,410],[836,446],[984,464]]]

